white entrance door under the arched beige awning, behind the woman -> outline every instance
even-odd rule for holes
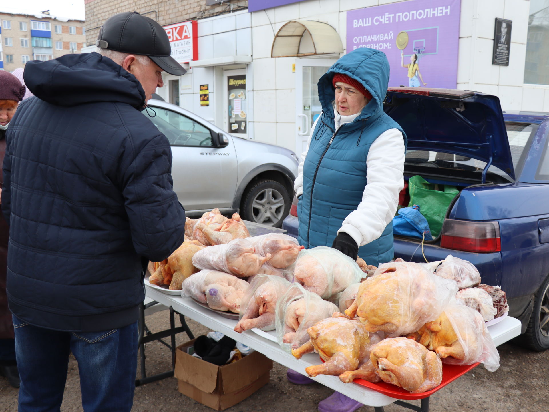
[[[295,153],[301,154],[307,148],[311,127],[322,113],[320,100],[318,100],[318,80],[335,61],[335,59],[296,59]]]

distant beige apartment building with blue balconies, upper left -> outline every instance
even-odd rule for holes
[[[12,72],[29,60],[81,53],[86,46],[84,23],[49,14],[0,13],[0,70]]]

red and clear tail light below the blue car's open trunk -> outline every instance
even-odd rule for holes
[[[497,222],[468,222],[445,219],[440,247],[466,252],[501,251],[500,226]]]

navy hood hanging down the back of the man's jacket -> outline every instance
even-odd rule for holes
[[[29,61],[24,80],[39,99],[58,106],[110,101],[143,109],[145,92],[135,76],[99,53]]]

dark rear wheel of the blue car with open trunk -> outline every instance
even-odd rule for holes
[[[524,332],[526,346],[534,351],[549,349],[549,277],[537,291],[534,310]]]

